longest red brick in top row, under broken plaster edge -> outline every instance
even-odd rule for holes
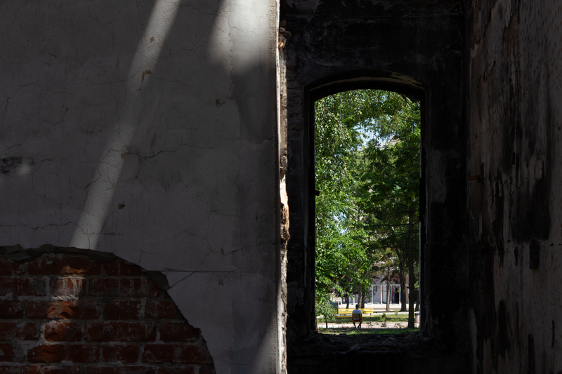
[[[30,261],[30,274],[88,274],[99,275],[101,264],[86,256],[77,255],[43,255]]]

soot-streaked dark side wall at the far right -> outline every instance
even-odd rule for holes
[[[467,6],[472,372],[562,370],[562,4]]]

